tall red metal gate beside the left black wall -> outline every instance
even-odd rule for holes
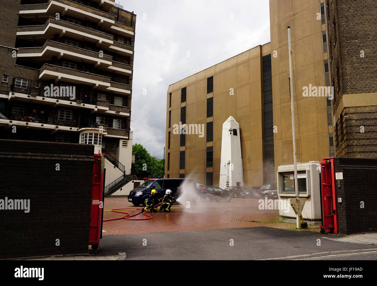
[[[101,237],[101,221],[103,207],[103,168],[102,154],[94,154],[93,180],[92,180],[92,206],[90,208],[89,245],[97,249]]]

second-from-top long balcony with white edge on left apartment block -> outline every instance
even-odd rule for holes
[[[26,40],[33,40],[34,38],[54,38],[55,34],[58,34],[59,37],[65,35],[79,41],[90,41],[97,46],[105,48],[113,45],[113,35],[69,23],[67,21],[57,20],[52,17],[49,18],[44,25],[17,27],[17,37]]]

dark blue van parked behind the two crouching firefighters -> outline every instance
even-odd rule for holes
[[[172,191],[172,196],[175,199],[179,196],[179,186],[184,180],[192,181],[195,186],[195,181],[192,179],[151,179],[146,180],[138,188],[130,191],[128,195],[128,201],[132,202],[134,206],[143,204],[145,206],[146,201],[150,195],[150,192],[155,189],[157,191],[157,197],[161,198],[165,195],[166,190]],[[195,187],[196,188],[196,187]]]

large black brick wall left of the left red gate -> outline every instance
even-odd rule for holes
[[[88,251],[93,153],[93,145],[0,139],[0,199],[30,199],[29,213],[0,210],[0,259]]]

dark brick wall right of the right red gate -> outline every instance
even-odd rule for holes
[[[342,203],[337,202],[339,233],[377,229],[377,159],[338,157],[335,172],[343,173],[336,190],[336,200],[342,198]]]

